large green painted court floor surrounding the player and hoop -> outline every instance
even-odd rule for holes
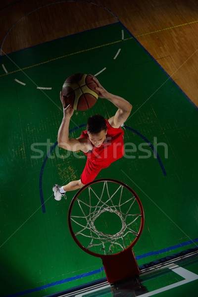
[[[133,105],[123,128],[125,156],[98,178],[126,183],[143,203],[138,264],[197,246],[198,109],[122,24],[2,56],[1,65],[1,297],[44,297],[105,277],[101,260],[69,233],[75,192],[55,201],[51,190],[79,179],[86,162],[83,153],[57,147],[59,92],[74,73],[96,75]],[[70,135],[80,136],[89,116],[115,112],[98,99],[74,113]]]

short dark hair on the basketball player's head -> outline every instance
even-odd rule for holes
[[[91,116],[87,121],[87,133],[97,134],[102,130],[107,130],[105,119],[100,114]]]

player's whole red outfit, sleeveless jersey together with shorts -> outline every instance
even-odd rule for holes
[[[84,153],[87,155],[87,163],[81,175],[84,185],[93,181],[102,168],[108,167],[124,155],[124,131],[121,128],[111,127],[107,119],[105,122],[107,134],[104,142],[99,148],[93,145],[92,150]],[[83,131],[80,137],[89,138],[87,131]]]

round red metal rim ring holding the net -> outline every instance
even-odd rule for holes
[[[102,255],[102,254],[98,254],[96,252],[93,252],[89,249],[87,249],[86,247],[83,247],[81,245],[81,243],[78,241],[78,239],[76,238],[74,232],[73,232],[73,229],[72,229],[72,226],[71,226],[71,212],[72,212],[72,207],[73,207],[73,204],[75,202],[75,200],[78,198],[78,196],[81,194],[82,191],[84,191],[86,188],[88,188],[89,186],[93,185],[93,184],[96,184],[96,183],[99,183],[99,182],[113,182],[113,183],[116,183],[116,184],[120,184],[122,186],[124,186],[125,188],[127,188],[133,195],[134,197],[136,198],[136,200],[138,201],[138,204],[139,204],[139,207],[140,207],[140,210],[141,210],[141,225],[140,225],[140,230],[138,232],[138,235],[137,237],[135,238],[135,240],[125,249],[123,249],[122,251],[118,252],[118,253],[114,253],[112,255]],[[72,199],[71,203],[70,203],[70,206],[69,206],[69,211],[68,211],[68,225],[69,225],[69,231],[71,233],[71,236],[73,237],[74,241],[76,242],[76,244],[82,248],[85,252],[95,256],[95,257],[99,257],[99,258],[103,258],[103,257],[111,257],[111,256],[115,256],[115,255],[118,255],[122,252],[125,252],[126,250],[128,250],[129,248],[132,248],[135,246],[135,244],[137,243],[137,241],[139,240],[140,238],[140,235],[142,234],[143,232],[143,228],[144,228],[144,222],[145,222],[145,215],[144,215],[144,209],[143,209],[143,205],[142,205],[142,202],[140,201],[140,198],[138,197],[138,195],[129,187],[127,186],[126,184],[124,184],[123,182],[120,182],[120,181],[117,181],[115,179],[110,179],[110,178],[105,178],[105,179],[98,179],[98,180],[95,180],[87,185],[85,185],[83,188],[81,188],[74,196],[74,198]]]

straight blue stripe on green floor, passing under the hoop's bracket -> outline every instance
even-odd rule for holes
[[[185,247],[185,246],[188,246],[188,245],[193,244],[193,243],[196,243],[196,242],[198,242],[198,238],[196,238],[194,240],[190,240],[190,241],[184,242],[184,243],[181,243],[179,245],[175,245],[175,246],[172,246],[172,247],[163,248],[163,249],[156,250],[156,251],[151,251],[151,252],[145,253],[143,255],[136,256],[136,259],[138,260],[138,259],[146,258],[146,257],[151,256],[151,255],[161,254],[163,252],[166,252],[166,251],[169,251],[169,250],[173,250],[173,249],[176,249],[178,247]],[[47,285],[44,285],[44,286],[41,286],[41,287],[38,287],[38,288],[29,289],[27,291],[23,291],[23,292],[20,292],[20,293],[14,293],[14,294],[11,294],[11,295],[6,295],[4,297],[17,297],[17,296],[22,296],[22,295],[34,293],[34,292],[37,292],[37,291],[40,291],[40,290],[47,289],[49,287],[61,285],[61,284],[64,284],[64,283],[68,283],[68,282],[71,282],[71,281],[74,281],[74,280],[82,279],[84,277],[87,277],[87,276],[90,276],[90,275],[94,275],[94,274],[100,273],[103,270],[104,270],[104,268],[101,267],[100,269],[97,269],[97,270],[94,270],[94,271],[90,271],[90,272],[86,272],[86,273],[83,273],[83,274],[79,274],[79,275],[76,275],[76,276],[73,276],[73,277],[69,277],[67,279],[63,279],[63,280],[60,280],[60,281],[57,281],[57,282],[53,282],[53,283],[50,283],[50,284],[47,284]]]

